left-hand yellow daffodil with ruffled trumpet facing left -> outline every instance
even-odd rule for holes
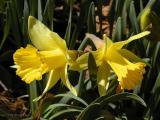
[[[49,72],[43,94],[61,79],[63,84],[77,95],[67,77],[67,67],[72,62],[70,55],[72,56],[74,51],[68,50],[66,42],[57,33],[50,31],[32,16],[28,20],[28,30],[34,46],[27,45],[14,53],[16,74],[29,84],[34,80],[41,80],[42,75]]]

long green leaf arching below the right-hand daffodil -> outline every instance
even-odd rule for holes
[[[94,111],[98,114],[102,108],[104,108],[108,103],[122,100],[135,100],[143,106],[146,106],[142,98],[133,93],[120,93],[112,96],[105,95],[94,100],[89,106],[87,106],[81,114],[78,116],[77,120],[88,120],[88,116],[92,116]],[[94,116],[95,117],[95,116]]]

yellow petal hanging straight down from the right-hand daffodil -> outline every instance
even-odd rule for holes
[[[108,76],[110,74],[110,67],[107,63],[102,63],[98,68],[97,73],[97,85],[98,85],[98,91],[100,96],[103,96],[106,94],[106,91],[108,89]]]

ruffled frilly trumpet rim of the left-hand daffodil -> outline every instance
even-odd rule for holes
[[[41,80],[42,75],[48,71],[37,54],[37,49],[31,45],[18,49],[13,55],[14,63],[17,65],[16,74],[26,83],[33,80]]]

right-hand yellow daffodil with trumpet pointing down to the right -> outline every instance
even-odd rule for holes
[[[115,43],[106,36],[104,36],[104,41],[102,41],[94,35],[87,35],[90,39],[95,39],[93,42],[97,47],[97,50],[92,51],[91,53],[98,66],[97,84],[100,95],[105,95],[106,93],[108,88],[108,76],[110,75],[111,70],[118,76],[118,81],[122,89],[131,90],[140,83],[143,79],[143,74],[145,73],[146,64],[142,59],[122,47],[149,33],[150,32],[145,31],[130,37],[128,40]],[[70,69],[87,69],[88,55],[89,53],[80,56]]]

